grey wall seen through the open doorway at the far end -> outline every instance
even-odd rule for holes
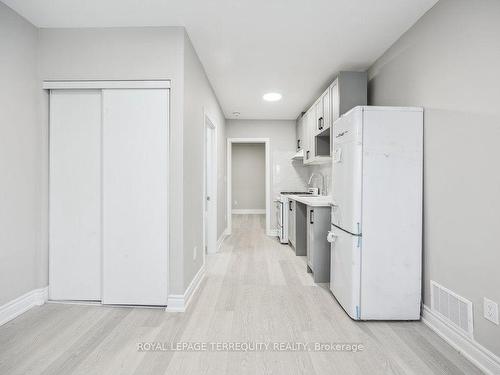
[[[235,143],[231,157],[233,210],[266,208],[266,148],[263,143]]]

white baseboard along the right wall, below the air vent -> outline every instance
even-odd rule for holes
[[[454,327],[424,305],[422,322],[486,374],[500,374],[500,358]]]

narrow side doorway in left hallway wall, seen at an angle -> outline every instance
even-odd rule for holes
[[[217,252],[217,129],[205,113],[203,256]]]

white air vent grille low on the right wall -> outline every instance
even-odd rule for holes
[[[431,310],[467,337],[473,337],[472,302],[431,280]]]

